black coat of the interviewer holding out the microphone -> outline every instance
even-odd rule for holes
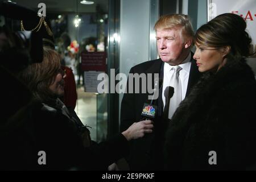
[[[75,123],[61,110],[41,103],[19,113],[6,131],[3,170],[106,170],[129,152],[122,134],[85,148]],[[46,165],[38,164],[39,151],[46,152]]]

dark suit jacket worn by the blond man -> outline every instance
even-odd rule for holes
[[[192,55],[193,57],[193,55]],[[200,73],[196,66],[196,61],[191,58],[191,69],[189,73],[187,94],[192,86],[199,80]],[[131,68],[130,73],[158,73],[163,78],[163,61],[161,59],[147,61]],[[153,75],[154,77],[154,75]],[[129,81],[128,81],[129,82]],[[129,84],[127,82],[127,92]],[[154,79],[152,79],[154,82]],[[142,84],[140,82],[140,90]],[[187,95],[186,94],[186,95]],[[121,104],[121,131],[126,130],[133,122],[143,119],[141,113],[144,103],[150,103],[148,93],[125,93]],[[155,170],[163,169],[163,152],[165,130],[168,123],[162,118],[162,88],[159,89],[157,117],[154,119],[154,133],[147,134],[145,137],[130,142],[130,156],[127,158],[130,169],[132,170]]]

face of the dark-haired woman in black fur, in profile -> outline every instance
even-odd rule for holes
[[[212,47],[196,44],[196,52],[193,58],[196,60],[200,72],[217,72],[225,64],[224,51]]]

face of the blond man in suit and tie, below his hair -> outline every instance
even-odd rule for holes
[[[156,30],[156,41],[160,58],[170,65],[179,65],[188,56],[179,29]]]

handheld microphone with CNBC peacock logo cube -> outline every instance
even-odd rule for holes
[[[161,78],[155,78],[154,80],[154,94],[151,96],[150,104],[144,103],[142,113],[141,115],[145,118],[155,118],[157,106],[154,105],[155,100],[159,96],[159,87],[162,86],[162,79]],[[149,96],[150,97],[150,96]]]

